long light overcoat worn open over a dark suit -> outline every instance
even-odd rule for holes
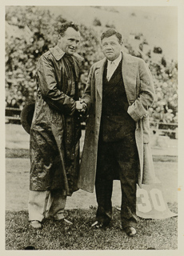
[[[98,154],[98,136],[102,115],[102,75],[106,58],[90,69],[83,96],[89,109],[86,137],[82,152],[78,187],[94,191]],[[141,58],[122,53],[122,78],[129,103],[128,114],[136,122],[135,138],[139,156],[138,185],[155,182],[154,165],[150,151],[150,126],[147,110],[154,102],[154,83],[148,66]]]

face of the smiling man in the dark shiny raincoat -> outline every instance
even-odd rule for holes
[[[73,55],[75,50],[78,47],[78,43],[80,41],[80,33],[79,31],[74,30],[72,27],[67,28],[65,34],[58,38],[58,46],[61,48],[66,54]]]

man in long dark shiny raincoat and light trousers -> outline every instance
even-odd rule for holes
[[[38,94],[30,128],[28,205],[34,228],[42,227],[43,218],[65,221],[66,196],[78,190],[82,110],[78,77],[82,58],[75,50],[79,40],[78,26],[63,23],[58,30],[57,46],[38,61]]]

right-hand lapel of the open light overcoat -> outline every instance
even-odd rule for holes
[[[137,62],[132,56],[122,53],[122,78],[129,104],[136,99]]]

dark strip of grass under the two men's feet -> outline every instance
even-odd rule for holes
[[[177,204],[170,204],[177,213]],[[45,220],[42,230],[34,230],[28,222],[27,211],[6,211],[6,250],[176,250],[178,218],[145,220],[139,218],[138,236],[129,238],[122,231],[120,212],[114,208],[113,220],[106,230],[90,227],[96,209],[66,210],[68,226]],[[27,250],[27,249],[26,249]]]

